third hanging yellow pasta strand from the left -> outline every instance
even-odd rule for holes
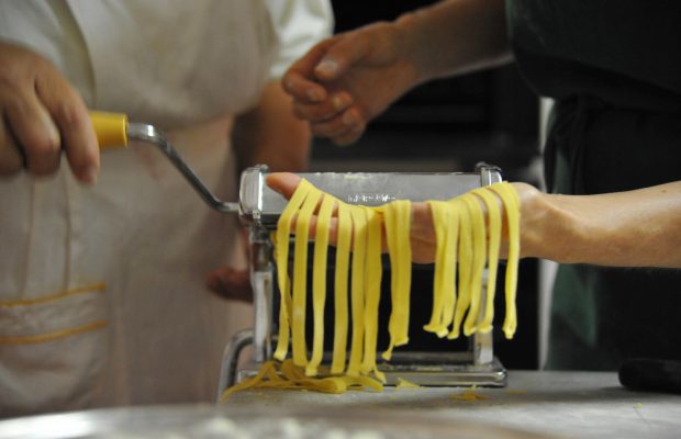
[[[326,260],[328,256],[328,229],[331,215],[336,200],[324,194],[316,219],[316,235],[314,240],[314,264],[312,269],[312,309],[314,331],[312,339],[312,356],[305,374],[316,375],[324,353],[324,305],[326,303]]]

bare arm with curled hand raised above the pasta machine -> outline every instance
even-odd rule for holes
[[[416,85],[500,64],[509,54],[503,0],[449,0],[320,43],[283,85],[314,134],[348,144]]]

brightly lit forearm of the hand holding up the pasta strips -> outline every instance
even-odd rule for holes
[[[523,256],[612,267],[681,267],[681,181],[599,195],[520,193]]]

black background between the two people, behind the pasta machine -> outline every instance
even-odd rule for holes
[[[379,21],[432,3],[428,0],[333,1],[336,32]],[[538,184],[533,164],[538,157],[538,101],[509,65],[423,85],[373,121],[357,143],[337,147],[315,140],[314,171],[472,171],[485,161],[499,166],[505,180]],[[503,271],[496,294],[494,350],[509,369],[537,369],[537,261],[523,260],[517,292],[515,338],[501,334],[504,315]],[[386,273],[384,275],[389,275]],[[416,304],[415,297],[427,297]],[[386,302],[386,301],[383,301]],[[432,270],[414,270],[412,350],[443,350],[451,345],[423,331],[429,318]]]

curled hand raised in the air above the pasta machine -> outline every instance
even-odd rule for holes
[[[378,23],[317,44],[282,79],[295,115],[337,145],[358,139],[417,82],[405,38],[394,23]]]

